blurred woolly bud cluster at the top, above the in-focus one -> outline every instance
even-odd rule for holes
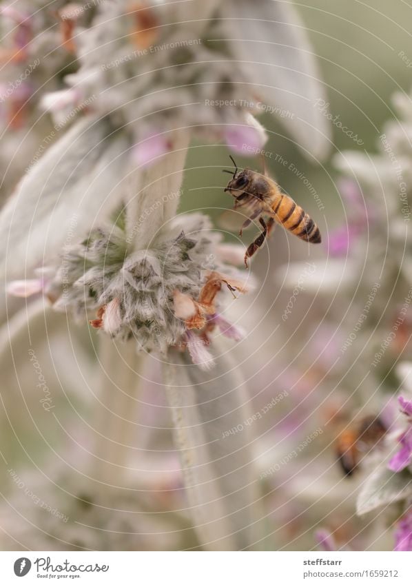
[[[173,150],[170,132],[176,127],[192,127],[207,140],[223,139],[236,152],[243,152],[244,144],[262,147],[267,136],[251,115],[256,108],[209,105],[218,100],[223,86],[229,101],[236,102],[239,79],[247,80],[238,63],[228,59],[226,44],[216,52],[207,43],[213,20],[206,19],[200,31],[161,26],[159,12],[143,5],[130,5],[129,10],[122,3],[99,6],[94,26],[79,36],[79,71],[65,77],[69,87],[57,92],[56,99],[47,96],[54,116],[64,101],[74,107],[92,96],[94,112],[120,120],[131,132],[132,160],[138,165]],[[252,96],[247,97],[247,103],[253,103]]]

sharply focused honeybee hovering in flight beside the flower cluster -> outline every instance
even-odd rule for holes
[[[264,174],[250,169],[239,171],[234,159],[231,156],[230,158],[234,163],[235,171],[225,191],[229,191],[234,196],[234,209],[239,209],[247,216],[239,235],[242,236],[243,229],[255,219],[258,219],[262,226],[260,235],[247,248],[246,267],[248,258],[251,258],[265,242],[275,221],[301,240],[312,244],[321,242],[319,228],[313,219],[289,195],[281,192],[277,183],[267,176],[266,170]],[[232,174],[227,169],[223,172]],[[269,216],[269,219],[265,221],[263,216]]]

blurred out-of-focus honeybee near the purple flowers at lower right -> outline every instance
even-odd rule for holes
[[[376,447],[387,432],[379,417],[365,416],[342,431],[336,440],[336,455],[344,474],[352,475],[362,455]]]

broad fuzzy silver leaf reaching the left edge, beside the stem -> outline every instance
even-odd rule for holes
[[[89,116],[50,147],[1,211],[2,276],[30,274],[119,205],[126,149],[123,134]]]

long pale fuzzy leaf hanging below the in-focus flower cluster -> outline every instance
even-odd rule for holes
[[[163,377],[200,543],[210,551],[252,548],[259,493],[243,380],[224,350],[209,373],[191,365],[187,353],[172,351],[169,356]],[[243,428],[233,432],[236,427]]]

